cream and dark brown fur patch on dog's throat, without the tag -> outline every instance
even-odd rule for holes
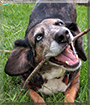
[[[46,62],[39,73],[43,79],[54,79],[64,75],[66,70],[60,66],[54,65],[51,62]]]

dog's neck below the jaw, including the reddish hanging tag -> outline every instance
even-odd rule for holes
[[[47,80],[63,77],[62,81],[68,84],[73,80],[74,75],[76,75],[79,69],[76,71],[67,71],[62,66],[54,65],[51,62],[46,62],[40,69],[39,73],[43,79]]]

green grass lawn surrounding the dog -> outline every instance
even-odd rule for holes
[[[2,50],[10,50],[13,48],[14,41],[16,39],[24,38],[25,31],[29,22],[29,14],[34,7],[34,4],[10,4],[3,6],[3,20],[2,20],[2,31],[3,35],[0,36],[0,43]],[[87,7],[76,6],[77,9],[77,23],[83,31],[87,28]],[[14,29],[13,29],[14,28]],[[87,54],[87,36],[84,38],[84,49]],[[19,77],[10,77],[4,72],[5,63],[7,61],[9,54],[5,52],[0,52],[0,68],[1,77],[3,82],[3,97],[1,96],[2,102],[15,102],[17,94],[22,89],[21,80]],[[1,86],[2,86],[1,85]],[[87,62],[82,61],[81,75],[80,75],[80,90],[76,97],[75,102],[87,102]],[[2,94],[1,94],[2,95]],[[54,94],[52,96],[43,95],[42,97],[46,102],[62,102],[64,95],[61,92]],[[28,92],[21,95],[17,102],[31,102],[29,99]]]

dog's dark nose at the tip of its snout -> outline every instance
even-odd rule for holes
[[[60,43],[65,43],[69,42],[70,39],[70,34],[68,29],[62,28],[59,32],[56,33],[55,35],[55,40],[60,44]]]

